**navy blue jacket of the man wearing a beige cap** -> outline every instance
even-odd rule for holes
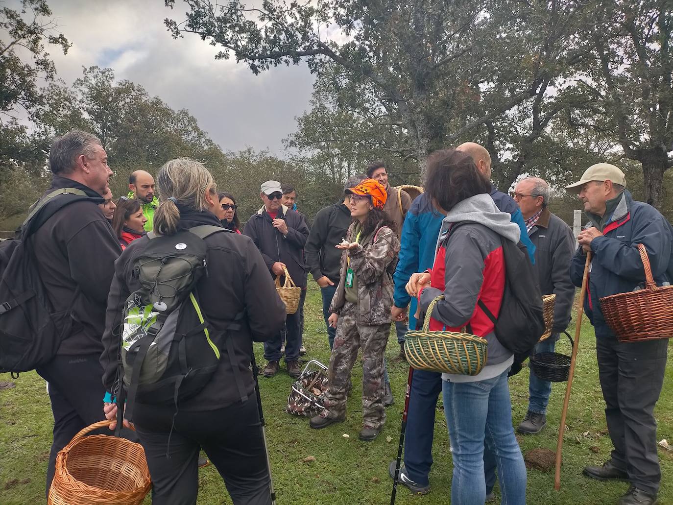
[[[594,253],[584,300],[584,311],[598,338],[614,338],[600,308],[600,299],[618,293],[633,291],[645,282],[643,261],[637,244],[645,244],[654,280],[661,284],[672,281],[671,248],[673,228],[657,209],[647,203],[634,201],[629,191],[609,217],[603,236],[594,238]],[[585,228],[594,226],[589,222]],[[573,283],[581,287],[586,256],[577,248],[571,261]],[[668,272],[667,272],[668,270]]]

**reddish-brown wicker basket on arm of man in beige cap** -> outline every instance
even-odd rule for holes
[[[645,289],[601,298],[601,311],[619,341],[673,338],[673,285],[656,285],[645,246],[638,244],[638,250],[645,267]]]

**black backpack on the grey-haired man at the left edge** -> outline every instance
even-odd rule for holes
[[[52,191],[33,205],[15,238],[0,242],[0,372],[27,372],[50,361],[72,325],[70,308],[55,314],[28,244],[52,215],[76,201],[89,199],[83,191]]]

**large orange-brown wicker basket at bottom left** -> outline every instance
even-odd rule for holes
[[[56,457],[48,505],[139,505],[152,485],[143,446],[125,438],[87,433],[84,428]]]

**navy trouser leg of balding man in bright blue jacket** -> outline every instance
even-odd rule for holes
[[[439,393],[441,393],[441,374],[414,370],[409,393],[409,412],[406,417],[404,467],[409,478],[420,485],[429,483]]]

